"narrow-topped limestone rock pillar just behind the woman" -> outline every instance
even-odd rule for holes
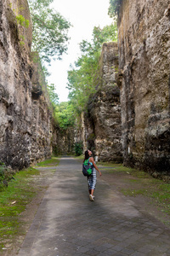
[[[105,43],[100,59],[101,86],[88,102],[86,141],[99,160],[122,161],[120,91],[116,84],[118,50]]]

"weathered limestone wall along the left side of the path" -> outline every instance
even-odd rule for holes
[[[30,20],[29,28],[16,22],[20,6],[21,14]],[[16,169],[48,157],[52,148],[48,96],[44,92],[44,79],[37,74],[39,64],[30,59],[30,51],[31,19],[27,1],[1,1],[0,160]]]

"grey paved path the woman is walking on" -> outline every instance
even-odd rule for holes
[[[81,169],[77,160],[60,160],[19,256],[170,255],[170,230],[99,176],[89,201]]]

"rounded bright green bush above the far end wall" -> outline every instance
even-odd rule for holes
[[[75,124],[75,113],[71,102],[60,102],[55,108],[55,118],[59,127],[66,130]]]

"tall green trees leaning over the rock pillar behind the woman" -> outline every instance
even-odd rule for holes
[[[88,98],[99,88],[99,58],[101,47],[104,42],[115,41],[117,39],[116,24],[105,26],[101,29],[94,27],[93,40],[88,42],[83,40],[80,44],[81,57],[75,62],[75,67],[68,71],[68,89],[77,113],[81,113],[88,103]]]

